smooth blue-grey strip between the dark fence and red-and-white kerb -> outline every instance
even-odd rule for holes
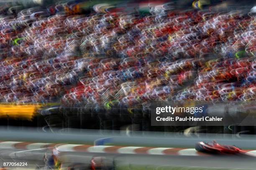
[[[209,142],[217,140],[223,145],[236,145],[241,149],[256,149],[256,135],[220,135],[198,134],[199,136],[184,136],[179,133],[132,132],[108,130],[75,130],[44,132],[38,128],[0,128],[0,139],[4,141],[25,141],[40,143],[72,143],[94,144],[95,141],[108,138],[104,145],[121,146],[152,146],[173,148],[194,148],[200,141]]]

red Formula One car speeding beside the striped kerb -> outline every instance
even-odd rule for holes
[[[224,153],[224,154],[237,154],[244,153],[243,150],[231,145],[220,145],[215,140],[209,143],[199,142],[196,143],[195,149],[203,153]]]

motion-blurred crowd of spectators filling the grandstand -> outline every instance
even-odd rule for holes
[[[195,5],[195,4],[194,4]],[[256,99],[250,10],[148,13],[79,3],[0,9],[0,101],[134,107]]]

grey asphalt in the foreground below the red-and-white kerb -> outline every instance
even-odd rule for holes
[[[26,162],[27,167],[43,167],[43,150],[25,151],[16,149],[0,150],[0,165],[3,162]],[[131,154],[105,154],[105,153],[85,153],[66,152],[60,155],[60,160],[69,164],[85,163],[90,164],[93,157],[104,157],[113,160],[116,167],[152,165],[154,167],[207,167],[207,168],[229,168],[255,170],[256,157],[247,155],[212,155],[212,156],[177,156],[177,155],[131,155]]]

